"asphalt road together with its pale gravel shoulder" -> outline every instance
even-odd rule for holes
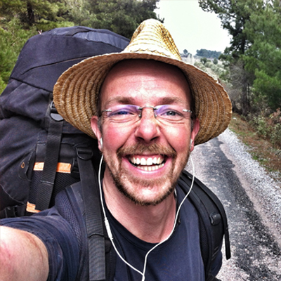
[[[195,176],[220,198],[228,215],[232,258],[223,281],[281,280],[281,184],[251,158],[229,129],[192,152]],[[190,163],[188,171],[192,172]],[[224,254],[224,249],[223,249]]]

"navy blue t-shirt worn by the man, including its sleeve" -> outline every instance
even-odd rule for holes
[[[178,202],[183,191],[177,188]],[[87,237],[84,219],[64,192],[56,199],[56,207],[32,217],[6,218],[1,225],[27,230],[37,235],[48,250],[50,273],[48,280],[72,281],[87,275]],[[65,206],[65,207],[62,207]],[[70,211],[70,208],[75,211]],[[77,215],[78,214],[78,215]],[[77,218],[74,218],[77,216]],[[114,241],[120,254],[138,270],[143,271],[145,254],[155,244],[144,242],[108,214]],[[215,263],[214,275],[221,267],[221,256]],[[141,281],[141,275],[126,266],[117,256],[115,281]],[[169,240],[148,256],[145,280],[203,281],[204,265],[200,251],[200,232],[197,212],[189,200],[183,204],[176,229]]]

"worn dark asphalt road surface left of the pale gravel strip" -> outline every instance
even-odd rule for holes
[[[219,136],[192,152],[197,178],[216,193],[228,214],[233,257],[224,259],[218,277],[223,281],[280,281],[281,222],[279,226],[272,223],[266,202],[257,199],[259,194],[243,172],[244,164],[230,153],[227,140]],[[190,164],[188,170],[192,171]]]

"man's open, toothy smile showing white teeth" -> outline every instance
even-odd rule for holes
[[[136,166],[138,169],[142,169],[144,171],[155,171],[162,168],[165,164],[165,158],[162,155],[154,156],[154,157],[142,157],[131,155],[129,157],[129,162]]]

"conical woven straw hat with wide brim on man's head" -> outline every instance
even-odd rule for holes
[[[161,22],[152,19],[141,23],[121,53],[88,58],[59,77],[53,100],[60,115],[77,129],[96,138],[91,129],[91,117],[97,114],[100,86],[112,66],[126,59],[158,60],[176,65],[183,71],[195,101],[195,114],[200,119],[195,145],[215,138],[228,127],[232,105],[226,91],[207,73],[184,63],[169,31]]]

